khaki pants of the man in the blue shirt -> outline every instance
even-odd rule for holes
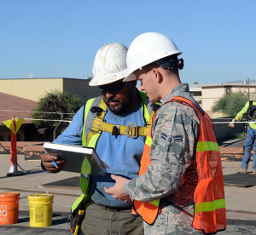
[[[97,204],[90,204],[79,234],[86,235],[143,235],[143,220],[131,215],[131,210],[112,212]]]

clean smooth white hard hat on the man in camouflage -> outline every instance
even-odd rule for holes
[[[126,56],[129,76],[124,81],[136,80],[133,72],[143,66],[172,54],[182,54],[169,37],[158,32],[146,32],[136,37],[130,45]]]

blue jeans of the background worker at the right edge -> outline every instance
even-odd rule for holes
[[[247,129],[247,138],[244,142],[244,154],[241,160],[241,169],[247,169],[248,164],[251,158],[251,151],[254,146],[254,154],[253,154],[253,170],[256,170],[256,141],[255,141],[255,133],[253,136],[250,135],[249,128]]]

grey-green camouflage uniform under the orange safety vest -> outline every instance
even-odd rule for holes
[[[126,181],[124,186],[125,192],[138,201],[161,198],[161,214],[152,226],[144,222],[145,234],[201,234],[192,227],[200,119],[191,106],[166,103],[174,96],[183,96],[197,104],[186,83],[166,95],[152,127],[151,165],[144,175]]]

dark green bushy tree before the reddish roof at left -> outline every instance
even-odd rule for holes
[[[79,110],[79,98],[66,92],[53,90],[38,100],[38,106],[32,112],[33,119],[71,120]],[[49,113],[52,112],[52,113]],[[72,113],[72,114],[63,114]],[[58,122],[33,121],[37,128],[49,127],[54,129]]]

